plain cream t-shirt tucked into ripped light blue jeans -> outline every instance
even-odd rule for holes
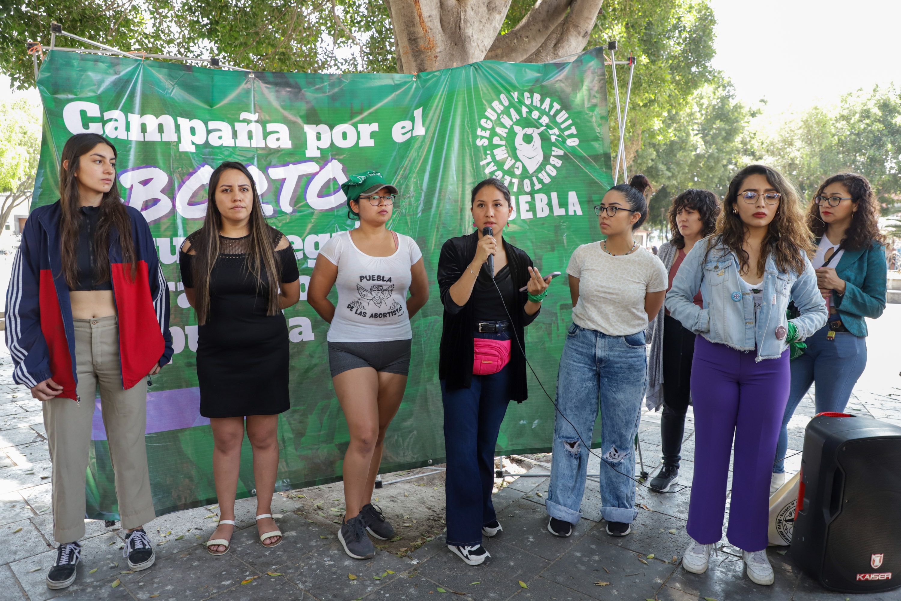
[[[578,303],[572,309],[576,325],[628,336],[648,326],[644,296],[667,289],[667,269],[650,250],[638,247],[614,257],[601,242],[582,244],[569,258],[566,272],[578,278]]]

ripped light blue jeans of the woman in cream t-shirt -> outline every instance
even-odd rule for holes
[[[601,516],[607,522],[633,522],[638,511],[630,478],[635,472],[633,450],[647,373],[643,331],[608,336],[575,323],[569,326],[557,377],[560,412],[554,423],[547,500],[551,517],[577,524],[582,516],[588,464],[583,441],[591,442],[600,406]]]

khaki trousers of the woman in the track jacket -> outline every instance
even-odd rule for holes
[[[115,315],[73,321],[81,406],[55,398],[43,409],[53,464],[53,538],[60,543],[85,535],[85,479],[98,384],[122,527],[136,528],[156,517],[144,446],[147,380],[122,389]]]

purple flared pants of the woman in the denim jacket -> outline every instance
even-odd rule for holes
[[[688,534],[702,544],[723,537],[729,457],[735,439],[729,542],[744,551],[767,548],[769,480],[788,402],[788,351],[756,362],[743,352],[696,336],[691,369],[695,407],[695,478]]]

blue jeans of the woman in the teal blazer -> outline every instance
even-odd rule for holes
[[[860,374],[867,367],[867,339],[851,332],[837,332],[835,339],[826,338],[829,326],[824,325],[805,340],[804,354],[791,362],[791,392],[782,418],[782,430],[776,445],[776,462],[773,472],[785,472],[785,457],[788,451],[788,422],[795,414],[797,405],[807,394],[810,385],[816,383],[816,413],[824,411],[844,411],[857,384]]]

